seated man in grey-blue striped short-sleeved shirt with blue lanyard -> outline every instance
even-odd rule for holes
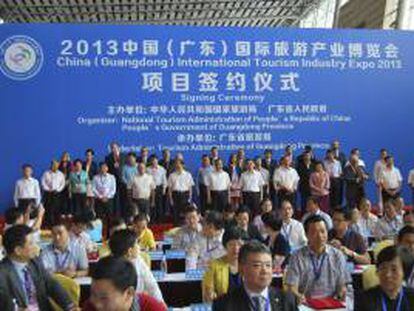
[[[328,230],[319,215],[305,222],[308,246],[293,253],[286,271],[286,286],[299,302],[306,298],[344,299],[350,276],[342,252],[327,244]]]

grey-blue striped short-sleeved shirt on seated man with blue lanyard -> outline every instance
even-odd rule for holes
[[[333,297],[350,281],[345,256],[330,245],[319,257],[308,246],[290,256],[286,284],[297,286],[305,296]]]

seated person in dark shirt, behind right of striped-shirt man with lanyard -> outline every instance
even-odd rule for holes
[[[336,209],[332,215],[333,228],[329,231],[329,243],[339,249],[348,260],[356,264],[370,264],[367,244],[359,233],[349,228],[350,212]]]

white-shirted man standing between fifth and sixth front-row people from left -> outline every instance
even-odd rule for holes
[[[167,189],[167,171],[158,164],[158,158],[155,155],[151,157],[150,163],[151,166],[147,168],[147,172],[155,182],[154,208],[151,209],[151,219],[160,221],[166,212],[164,195]]]

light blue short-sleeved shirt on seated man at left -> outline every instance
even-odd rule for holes
[[[88,269],[88,256],[86,250],[79,243],[69,240],[65,251],[61,252],[49,244],[41,254],[43,265],[51,273],[57,273],[69,268],[79,270]]]

